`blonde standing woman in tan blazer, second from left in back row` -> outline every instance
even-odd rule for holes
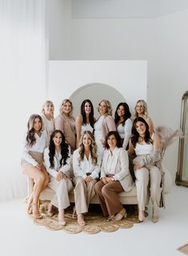
[[[62,131],[66,142],[70,144],[70,152],[73,153],[76,148],[76,130],[72,102],[63,100],[59,111],[60,114],[55,118],[55,129]]]

